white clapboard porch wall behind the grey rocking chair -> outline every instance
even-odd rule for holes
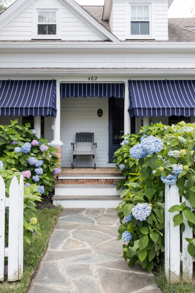
[[[71,142],[75,142],[76,132],[94,132],[96,148],[96,167],[109,167],[107,164],[107,98],[64,98],[61,99],[62,167],[71,167]],[[103,116],[98,117],[98,109]],[[45,138],[53,140],[52,118],[45,117]],[[77,156],[75,167],[93,167],[92,156]],[[110,165],[111,166],[111,165]]]

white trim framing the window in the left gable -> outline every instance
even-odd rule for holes
[[[56,12],[56,35],[38,35],[38,12]],[[32,39],[57,39],[61,40],[61,22],[62,6],[61,5],[33,5],[32,6]]]

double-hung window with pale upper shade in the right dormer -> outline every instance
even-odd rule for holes
[[[148,5],[131,5],[131,36],[150,35]]]

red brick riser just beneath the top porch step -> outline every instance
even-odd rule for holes
[[[58,179],[56,184],[117,184],[122,179]]]

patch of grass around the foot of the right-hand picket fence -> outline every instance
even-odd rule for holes
[[[163,293],[194,293],[195,292],[195,278],[192,283],[179,282],[170,284],[165,277],[165,270],[163,266],[157,266],[155,269],[155,283]],[[195,277],[195,276],[194,276]]]

